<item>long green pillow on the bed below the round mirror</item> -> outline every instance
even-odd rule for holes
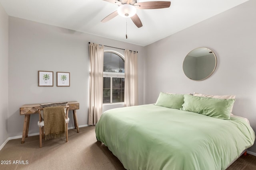
[[[234,102],[235,99],[216,99],[185,94],[184,104],[180,109],[219,119],[230,119],[230,110]]]

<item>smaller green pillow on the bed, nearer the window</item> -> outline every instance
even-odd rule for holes
[[[156,106],[163,106],[172,109],[180,109],[184,103],[183,94],[169,94],[160,92],[156,101]]]

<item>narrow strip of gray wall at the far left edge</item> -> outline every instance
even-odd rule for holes
[[[0,4],[0,147],[8,138],[8,15]]]

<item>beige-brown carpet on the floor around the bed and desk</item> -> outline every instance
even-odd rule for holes
[[[24,144],[21,139],[8,141],[0,150],[0,161],[10,160],[11,164],[0,164],[0,170],[125,170],[108,148],[96,141],[94,126],[79,130],[68,131],[68,143],[64,138],[43,140],[41,149],[38,135],[26,138]],[[256,156],[241,156],[228,170],[256,170]]]

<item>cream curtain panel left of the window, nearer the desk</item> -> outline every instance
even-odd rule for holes
[[[88,125],[96,125],[102,114],[103,97],[103,56],[104,50],[98,44],[89,45],[90,52],[90,92]]]

